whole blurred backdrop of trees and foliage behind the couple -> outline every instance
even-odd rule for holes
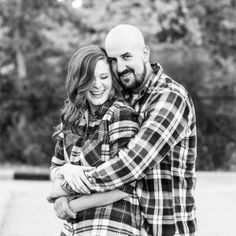
[[[192,94],[198,170],[236,170],[235,0],[0,0],[0,163],[47,167],[69,58],[131,23]]]

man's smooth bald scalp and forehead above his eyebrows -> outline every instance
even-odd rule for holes
[[[133,47],[142,49],[145,46],[142,32],[135,26],[129,24],[120,24],[112,28],[105,39],[105,48],[113,48],[114,45],[123,47]]]

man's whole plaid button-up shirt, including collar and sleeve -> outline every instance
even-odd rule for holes
[[[139,179],[136,191],[146,234],[194,235],[196,118],[192,99],[159,64],[139,95],[126,98],[139,113],[141,128],[116,157],[89,173],[94,187],[107,191]]]

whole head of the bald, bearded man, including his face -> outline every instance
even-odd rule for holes
[[[121,85],[133,92],[140,89],[151,72],[149,48],[141,31],[133,25],[117,25],[107,34],[105,49]]]

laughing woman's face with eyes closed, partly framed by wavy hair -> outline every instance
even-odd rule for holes
[[[86,99],[94,113],[98,106],[105,103],[112,89],[112,78],[108,63],[99,60],[94,70],[94,81],[86,93]]]

